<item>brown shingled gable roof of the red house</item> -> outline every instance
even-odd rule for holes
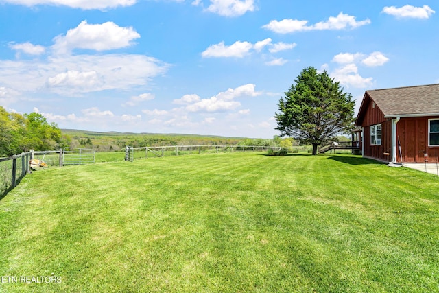
[[[439,116],[439,84],[366,91],[357,121],[372,99],[387,118]]]

